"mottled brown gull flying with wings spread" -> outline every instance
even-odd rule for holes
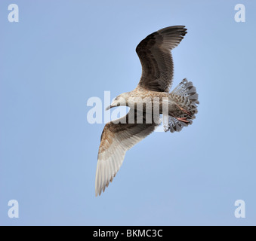
[[[167,105],[165,132],[180,132],[183,127],[192,124],[199,104],[196,87],[184,78],[169,93],[174,77],[171,50],[180,44],[186,34],[185,26],[169,26],[153,32],[137,45],[136,52],[142,66],[140,82],[131,92],[117,96],[106,108],[122,105],[130,107],[130,110],[124,117],[107,123],[101,134],[95,178],[96,197],[113,181],[126,151],[161,124],[164,105]]]

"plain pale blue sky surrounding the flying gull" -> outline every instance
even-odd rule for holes
[[[8,5],[20,22],[8,22]],[[235,5],[245,5],[236,23]],[[0,224],[256,224],[254,1],[0,2]],[[91,96],[133,90],[137,44],[185,25],[174,86],[199,93],[180,133],[134,146],[113,183],[94,197],[103,124],[88,124]],[[8,200],[20,218],[8,218]],[[236,200],[246,218],[235,218]]]

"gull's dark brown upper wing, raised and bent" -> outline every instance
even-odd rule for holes
[[[174,72],[171,50],[180,44],[186,34],[185,26],[171,26],[153,32],[140,41],[136,48],[142,66],[138,87],[169,92]]]

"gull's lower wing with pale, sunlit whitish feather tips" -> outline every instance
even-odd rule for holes
[[[131,109],[124,117],[106,124],[101,135],[97,159],[96,196],[105,191],[109,182],[113,181],[122,165],[126,151],[153,133],[159,125],[159,120],[154,120],[152,117],[151,123],[146,124],[145,114],[140,116]]]

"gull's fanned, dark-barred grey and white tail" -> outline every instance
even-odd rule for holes
[[[192,120],[196,118],[195,114],[199,104],[198,93],[196,93],[196,87],[193,86],[193,83],[184,78],[170,93],[170,96],[175,103],[175,108],[171,108],[171,112],[169,112],[168,125],[165,126],[165,131],[180,132],[183,127],[192,124]]]

